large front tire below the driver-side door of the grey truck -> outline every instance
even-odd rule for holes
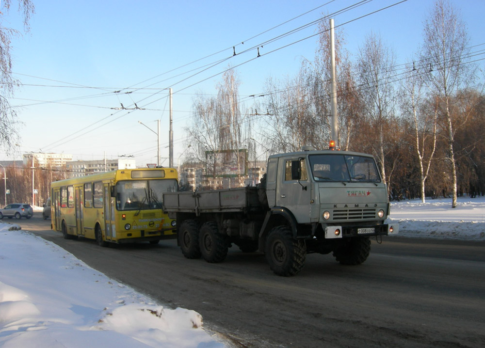
[[[288,226],[277,226],[270,231],[265,253],[273,272],[284,277],[298,274],[307,258],[305,241],[293,238]]]

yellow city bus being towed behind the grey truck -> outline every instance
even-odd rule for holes
[[[162,193],[176,191],[173,168],[119,169],[51,183],[51,228],[65,239],[109,243],[176,238],[176,221],[162,211]]]

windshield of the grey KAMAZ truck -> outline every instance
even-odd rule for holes
[[[343,154],[310,155],[308,160],[315,181],[381,181],[372,157]]]

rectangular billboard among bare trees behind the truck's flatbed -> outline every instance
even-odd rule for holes
[[[247,174],[247,149],[206,151],[208,177],[232,177]]]

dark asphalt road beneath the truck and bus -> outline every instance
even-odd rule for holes
[[[233,347],[485,347],[485,243],[385,237],[368,260],[309,254],[297,276],[229,249],[209,264],[175,240],[101,248],[65,240],[40,213],[19,222],[169,307],[193,309]]]

